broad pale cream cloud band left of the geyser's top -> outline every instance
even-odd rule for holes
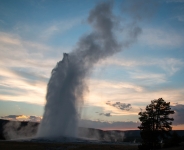
[[[68,48],[55,48],[42,43],[30,42],[12,33],[0,32],[0,66],[10,70],[26,70],[50,75],[55,63]],[[7,63],[8,62],[8,63]]]

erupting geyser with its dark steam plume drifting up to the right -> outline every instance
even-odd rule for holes
[[[64,54],[52,70],[37,137],[77,136],[77,108],[83,102],[86,77],[94,64],[129,46],[140,33],[140,28],[131,26],[129,40],[119,44],[114,35],[118,21],[111,9],[112,3],[101,3],[91,10],[88,23],[93,27],[92,33],[83,36],[77,48]]]

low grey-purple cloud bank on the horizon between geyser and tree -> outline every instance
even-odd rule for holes
[[[139,122],[106,122],[106,121],[100,121],[100,120],[79,120],[79,126],[80,127],[86,127],[86,128],[96,128],[96,129],[104,129],[104,130],[129,130],[129,129],[137,129],[137,127],[140,125]]]

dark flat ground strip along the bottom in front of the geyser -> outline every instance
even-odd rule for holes
[[[137,145],[122,144],[85,144],[85,143],[39,143],[0,141],[0,150],[138,150]],[[184,143],[180,147],[163,150],[184,150]]]

